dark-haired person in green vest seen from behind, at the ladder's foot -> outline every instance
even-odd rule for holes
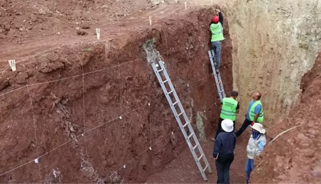
[[[222,110],[219,118],[219,123],[217,126],[217,131],[215,138],[212,138],[212,141],[215,141],[217,138],[217,135],[222,132],[222,121],[224,119],[230,119],[233,121],[233,129],[235,130],[235,119],[236,119],[236,114],[238,113],[239,110],[239,104],[235,100],[238,96],[237,91],[232,91],[230,97],[225,97],[222,100]]]

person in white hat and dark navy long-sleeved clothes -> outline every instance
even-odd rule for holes
[[[236,136],[233,133],[233,121],[222,121],[223,132],[220,132],[214,144],[213,156],[216,159],[217,184],[229,184],[229,167],[234,160]]]

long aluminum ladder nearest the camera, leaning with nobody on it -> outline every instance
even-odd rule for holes
[[[175,91],[175,88],[174,88],[174,86],[172,84],[172,81],[171,81],[169,75],[167,74],[167,71],[166,71],[166,68],[164,66],[164,63],[160,60],[160,61],[158,61],[158,64],[155,64],[154,62],[151,63],[151,66],[152,66],[152,68],[154,70],[154,73],[156,74],[157,79],[158,79],[158,81],[159,81],[159,83],[160,83],[160,85],[161,85],[161,87],[162,87],[162,89],[163,89],[163,91],[165,93],[166,99],[167,99],[167,101],[168,101],[168,103],[169,103],[169,105],[170,105],[170,107],[171,107],[171,109],[172,109],[172,111],[173,111],[173,113],[175,115],[175,118],[176,118],[177,122],[180,125],[180,128],[182,130],[183,136],[185,138],[185,141],[187,142],[187,145],[188,145],[188,147],[190,149],[190,152],[193,155],[193,158],[194,158],[194,160],[196,162],[198,170],[200,171],[204,181],[207,181],[207,177],[205,175],[205,171],[207,169],[207,171],[211,174],[212,173],[211,166],[209,165],[209,163],[208,163],[208,161],[206,159],[206,156],[205,156],[205,154],[203,152],[203,149],[202,149],[201,145],[199,144],[199,142],[197,140],[197,137],[196,137],[196,135],[194,133],[194,130],[193,130],[188,118],[187,118],[187,115],[186,115],[186,113],[185,113],[185,111],[183,109],[182,103],[181,103],[181,101],[180,101],[180,99],[179,99],[179,97],[178,97],[178,95],[177,95],[177,93]],[[161,75],[161,74],[163,74],[163,75]],[[162,76],[163,76],[163,78],[165,77],[164,80],[163,80]],[[165,86],[166,83],[168,83],[168,86],[170,88],[169,91],[167,91],[167,88]],[[172,97],[175,98],[175,100],[174,100],[175,102],[174,103],[172,101],[171,95],[173,95]],[[175,106],[179,107],[180,112],[178,112],[176,110]],[[184,124],[182,123],[182,120],[181,120],[182,115],[183,115],[183,119],[184,119],[183,120]],[[186,126],[188,127],[188,132],[190,133],[189,135],[187,135],[187,133],[186,133],[186,130],[185,130]],[[194,146],[191,144],[190,138],[193,139],[193,141],[195,143]],[[196,155],[196,152],[195,152],[196,148],[198,148],[200,156]],[[201,159],[202,158],[203,158],[203,161],[204,161],[204,164],[205,164],[204,168],[202,167],[202,164],[201,164]]]

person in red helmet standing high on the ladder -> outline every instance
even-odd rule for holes
[[[220,60],[221,60],[221,50],[222,50],[222,40],[223,36],[223,15],[219,9],[216,9],[219,16],[214,16],[212,18],[212,23],[210,25],[211,31],[211,44],[215,53],[214,59],[216,64],[216,73],[219,73]]]

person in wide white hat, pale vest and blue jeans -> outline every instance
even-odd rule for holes
[[[249,183],[250,174],[254,169],[254,157],[260,155],[267,143],[265,137],[265,129],[261,123],[254,123],[250,126],[252,128],[252,134],[246,147],[247,161],[245,172],[247,175],[246,184]]]

